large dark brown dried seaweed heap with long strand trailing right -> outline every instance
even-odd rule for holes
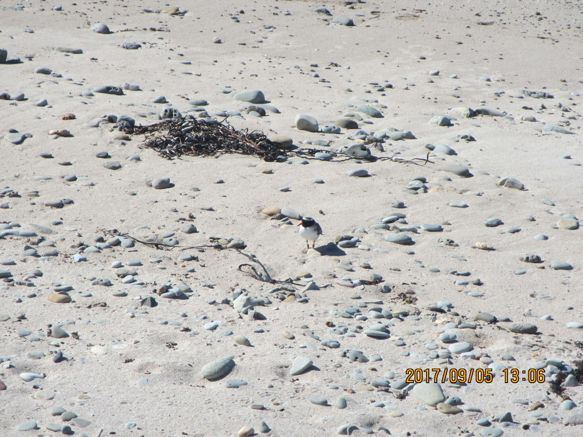
[[[149,126],[132,126],[128,122],[118,123],[117,128],[131,135],[145,135],[139,146],[142,149],[153,149],[164,158],[174,159],[181,156],[219,157],[225,153],[239,153],[261,158],[272,162],[279,157],[302,157],[312,160],[326,160],[332,162],[361,159],[367,161],[389,160],[398,163],[424,165],[428,158],[382,157],[357,158],[345,153],[331,152],[321,149],[294,149],[282,150],[281,145],[268,139],[259,131],[249,132],[248,129],[238,131],[226,121],[206,121],[196,118],[165,119]],[[115,127],[115,126],[114,126]],[[316,157],[318,152],[332,155],[332,159]],[[427,154],[429,157],[429,154]],[[419,161],[419,162],[417,162]],[[421,164],[422,163],[422,164]]]

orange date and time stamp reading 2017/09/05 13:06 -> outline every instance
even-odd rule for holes
[[[492,369],[406,369],[406,383],[440,382],[445,383],[491,383],[494,380]],[[502,369],[504,383],[517,383],[520,381],[533,383],[543,383],[546,380],[545,369]],[[433,375],[432,375],[433,373]],[[440,378],[441,373],[441,378]]]

